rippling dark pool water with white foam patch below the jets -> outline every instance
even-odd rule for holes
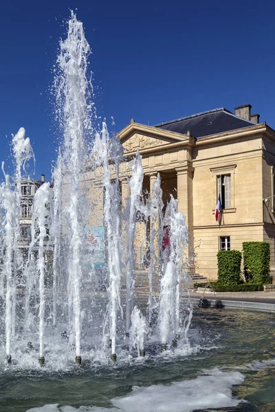
[[[195,310],[190,346],[60,372],[2,366],[0,411],[275,411],[275,313]]]

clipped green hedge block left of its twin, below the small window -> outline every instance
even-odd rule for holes
[[[218,258],[218,284],[237,285],[241,281],[241,252],[219,251]]]

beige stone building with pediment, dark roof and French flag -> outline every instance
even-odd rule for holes
[[[274,273],[275,131],[259,123],[250,104],[235,113],[217,108],[155,126],[132,119],[118,135],[126,159],[140,150],[144,188],[150,192],[159,173],[164,203],[170,194],[177,198],[195,251],[195,273],[215,279],[217,252],[241,251],[252,240],[270,242]],[[123,202],[129,194],[126,168],[120,174]],[[219,194],[223,211],[216,221]]]

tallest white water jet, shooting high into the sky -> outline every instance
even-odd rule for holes
[[[56,76],[56,100],[64,136],[64,168],[68,172],[69,204],[69,308],[74,318],[76,356],[80,356],[80,287],[83,276],[83,203],[80,201],[80,176],[87,159],[87,137],[91,133],[91,105],[88,103],[87,58],[91,53],[83,24],[72,12],[65,41],[61,41]]]

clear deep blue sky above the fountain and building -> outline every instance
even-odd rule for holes
[[[50,179],[57,136],[49,90],[69,9],[85,27],[96,106],[109,130],[120,131],[131,117],[153,125],[247,103],[275,128],[272,1],[6,1],[0,16],[0,160],[7,168],[11,133],[23,126],[36,176],[44,172]]]

